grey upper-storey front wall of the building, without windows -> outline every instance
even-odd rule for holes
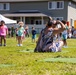
[[[48,0],[49,1],[49,0]],[[63,17],[67,19],[67,2],[64,2],[64,9],[49,10],[48,1],[34,1],[34,2],[17,2],[10,3],[10,11],[0,11],[0,13],[10,13],[19,10],[39,10],[40,12],[52,17]]]

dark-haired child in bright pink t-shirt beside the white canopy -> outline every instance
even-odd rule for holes
[[[1,26],[0,26],[0,46],[2,46],[2,40],[4,40],[4,46],[6,46],[6,35],[8,34],[8,28],[5,25],[5,22],[2,20],[1,21]]]

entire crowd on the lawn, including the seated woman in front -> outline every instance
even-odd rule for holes
[[[76,36],[74,27],[69,28],[65,20],[49,19],[46,27],[41,30],[37,41],[37,31],[35,27],[32,27],[32,42],[36,42],[34,52],[59,52],[62,47],[67,47],[67,38],[71,38],[72,35]],[[23,39],[25,36],[29,37],[29,27],[26,25],[24,28],[24,23],[20,21],[17,28],[8,28],[2,20],[0,22],[0,46],[6,46],[6,36],[14,37],[14,33],[16,35],[17,46],[23,46]]]

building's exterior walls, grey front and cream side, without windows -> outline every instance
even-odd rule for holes
[[[48,2],[54,0],[44,0],[44,1],[25,1],[25,2],[10,2],[10,10],[0,11],[0,14],[6,14],[11,12],[18,12],[19,10],[39,10],[40,12],[51,16],[51,17],[63,17],[64,20],[71,21],[70,24],[74,25],[74,20],[76,20],[76,6],[72,4],[68,6],[69,1],[64,1],[64,9],[49,10]],[[55,0],[57,1],[57,0]],[[58,0],[59,1],[59,0]],[[46,18],[45,18],[46,20]],[[45,22],[46,23],[46,22]],[[29,25],[30,28],[32,25]],[[36,25],[36,28],[43,28],[44,25]]]

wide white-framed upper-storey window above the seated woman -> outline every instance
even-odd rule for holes
[[[48,9],[63,9],[63,8],[64,8],[63,1],[48,2]]]

